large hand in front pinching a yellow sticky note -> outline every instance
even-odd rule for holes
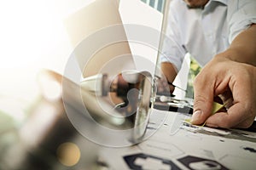
[[[195,78],[193,124],[206,121],[208,127],[250,127],[256,115],[256,67],[218,54]],[[227,111],[212,115],[214,97],[232,94]],[[224,99],[222,98],[222,99]]]

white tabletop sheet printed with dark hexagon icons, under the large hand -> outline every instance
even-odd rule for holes
[[[152,136],[132,147],[102,149],[100,155],[113,169],[255,169],[256,133],[183,122],[189,116],[153,110],[147,130],[157,129]]]

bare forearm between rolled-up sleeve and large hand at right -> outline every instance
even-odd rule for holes
[[[242,31],[223,54],[228,59],[256,66],[256,24]]]

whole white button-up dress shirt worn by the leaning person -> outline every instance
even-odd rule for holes
[[[172,62],[179,71],[189,53],[203,66],[256,22],[256,0],[210,0],[204,8],[172,0],[167,21],[160,61]]]

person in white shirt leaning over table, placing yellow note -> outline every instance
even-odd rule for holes
[[[194,82],[193,124],[252,125],[256,116],[255,8],[255,0],[172,0],[161,70],[173,82],[186,53],[203,67]],[[217,96],[224,101],[233,97],[232,105],[212,115]]]

